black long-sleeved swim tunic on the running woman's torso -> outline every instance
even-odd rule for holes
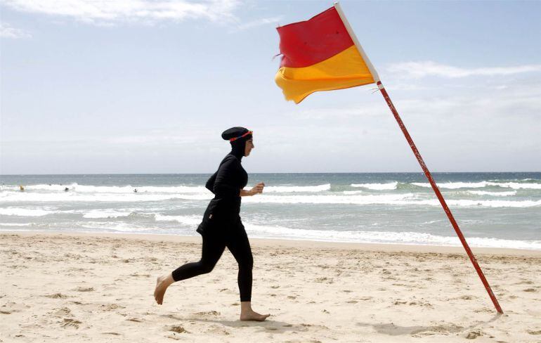
[[[240,157],[242,158],[242,157]],[[218,171],[207,181],[205,187],[214,193],[205,211],[205,216],[212,214],[216,219],[237,219],[240,214],[240,190],[248,183],[248,174],[240,158],[229,153],[220,163]]]

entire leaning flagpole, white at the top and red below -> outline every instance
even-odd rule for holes
[[[440,201],[441,207],[443,207],[443,211],[445,211],[445,214],[447,214],[447,217],[452,225],[452,228],[455,229],[455,232],[458,235],[458,238],[460,242],[462,243],[462,246],[464,247],[464,250],[466,250],[469,259],[471,261],[471,264],[474,265],[475,270],[477,271],[477,275],[479,278],[481,278],[481,282],[485,286],[485,290],[488,292],[488,296],[492,300],[496,311],[498,313],[503,313],[502,308],[500,307],[500,304],[498,303],[494,292],[490,288],[490,285],[488,284],[488,281],[485,278],[485,275],[483,274],[483,271],[481,270],[481,267],[477,263],[477,259],[474,256],[474,253],[471,252],[471,249],[469,248],[468,242],[466,242],[466,238],[464,238],[464,235],[462,235],[462,231],[460,231],[460,228],[457,224],[457,221],[455,221],[455,217],[452,216],[451,210],[449,209],[447,202],[445,202],[445,199],[443,198],[443,195],[441,195],[440,189],[436,185],[436,181],[432,178],[432,174],[430,173],[429,169],[426,167],[426,164],[424,163],[423,157],[421,156],[421,153],[419,153],[419,150],[417,150],[417,146],[415,146],[415,143],[413,142],[410,134],[408,133],[408,129],[406,129],[404,123],[402,122],[402,119],[400,119],[400,115],[398,115],[398,111],[393,105],[393,102],[391,101],[391,98],[389,98],[389,94],[387,93],[385,87],[383,86],[382,82],[379,79],[379,75],[377,74],[374,66],[372,63],[370,63],[370,60],[368,59],[368,56],[366,56],[365,51],[363,50],[362,46],[360,46],[359,41],[357,40],[357,37],[355,35],[355,32],[351,29],[351,26],[349,25],[348,20],[346,19],[346,16],[344,15],[344,12],[342,11],[340,4],[338,2],[334,3],[334,7],[337,9],[338,14],[340,15],[340,18],[344,22],[344,25],[346,26],[346,30],[348,30],[348,33],[350,34],[351,38],[353,39],[353,43],[356,45],[359,53],[361,56],[363,56],[363,59],[365,60],[365,63],[372,72],[372,76],[374,77],[374,82],[377,84],[377,88],[382,93],[382,96],[384,97],[387,105],[389,105],[389,109],[393,113],[394,118],[396,119],[396,122],[398,123],[398,127],[402,130],[402,133],[404,134],[406,141],[408,141],[408,144],[410,145],[410,148],[413,151],[413,155],[417,157],[417,161],[421,165],[421,168],[424,171],[424,175],[426,176],[426,179],[429,179],[430,186],[432,186],[432,189],[434,190],[434,193],[436,193],[436,197]]]

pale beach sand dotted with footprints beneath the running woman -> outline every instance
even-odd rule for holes
[[[1,342],[541,342],[541,252],[252,239],[256,311],[238,320],[237,266],[155,303],[157,276],[200,237],[2,233]]]

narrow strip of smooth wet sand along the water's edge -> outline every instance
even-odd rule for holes
[[[94,231],[0,231],[1,235],[22,235],[33,236],[43,235],[65,236],[65,237],[93,237],[93,238],[125,238],[146,241],[167,241],[167,242],[190,242],[200,243],[200,235],[174,235],[170,233],[100,233]],[[248,233],[250,244],[256,247],[306,247],[319,249],[338,250],[363,250],[372,252],[426,252],[441,254],[459,254],[466,251],[464,247],[453,247],[448,245],[416,245],[397,243],[360,243],[360,242],[332,242],[319,240],[296,240],[279,238],[252,238]],[[507,256],[532,256],[541,257],[541,250],[513,249],[502,247],[470,247],[474,254],[497,254]]]

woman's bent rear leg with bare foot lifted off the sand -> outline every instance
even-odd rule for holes
[[[222,238],[208,234],[203,235],[203,248],[200,261],[184,264],[176,268],[172,273],[157,278],[156,289],[154,290],[156,302],[159,305],[163,303],[165,291],[171,283],[210,273],[225,249],[226,243]]]

